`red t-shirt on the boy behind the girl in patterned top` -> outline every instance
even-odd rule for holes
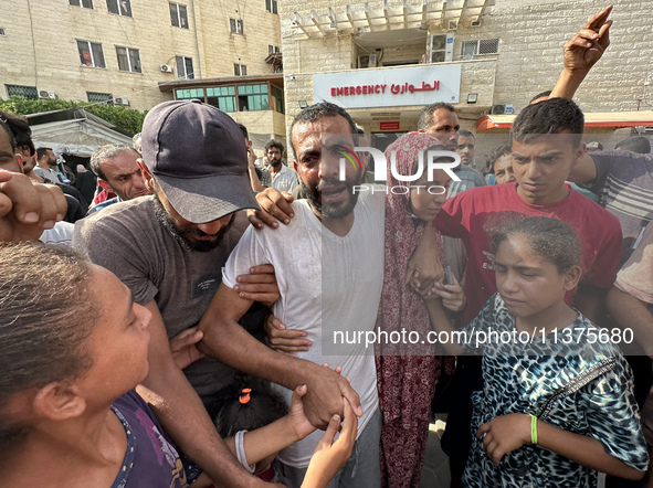
[[[569,185],[565,188],[569,195],[551,205],[526,203],[517,193],[517,183],[473,188],[446,201],[434,224],[442,234],[462,238],[467,250],[464,323],[476,317],[497,291],[494,254],[489,252],[492,236],[519,215],[549,216],[569,224],[582,245],[581,283],[612,287],[621,255],[619,220]],[[570,305],[571,299],[569,293],[565,301]]]

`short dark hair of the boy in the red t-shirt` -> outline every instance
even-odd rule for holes
[[[510,141],[529,142],[543,134],[569,131],[573,147],[580,146],[584,128],[582,110],[567,98],[549,98],[525,107],[510,129]]]

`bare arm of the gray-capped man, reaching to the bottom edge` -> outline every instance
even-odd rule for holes
[[[231,454],[199,396],[172,360],[159,308],[152,314],[148,350],[149,373],[138,393],[150,404],[166,433],[214,480],[230,487],[268,486],[250,476]]]

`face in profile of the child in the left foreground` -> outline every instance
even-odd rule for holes
[[[89,290],[97,297],[101,315],[86,340],[93,365],[78,385],[91,402],[113,402],[147,375],[151,314],[133,301],[129,289],[113,273],[99,266],[93,267]]]

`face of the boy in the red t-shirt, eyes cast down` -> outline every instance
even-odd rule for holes
[[[528,142],[513,140],[513,170],[519,183],[517,193],[535,205],[564,200],[565,181],[582,156],[584,146],[575,147],[568,132],[537,137]]]

